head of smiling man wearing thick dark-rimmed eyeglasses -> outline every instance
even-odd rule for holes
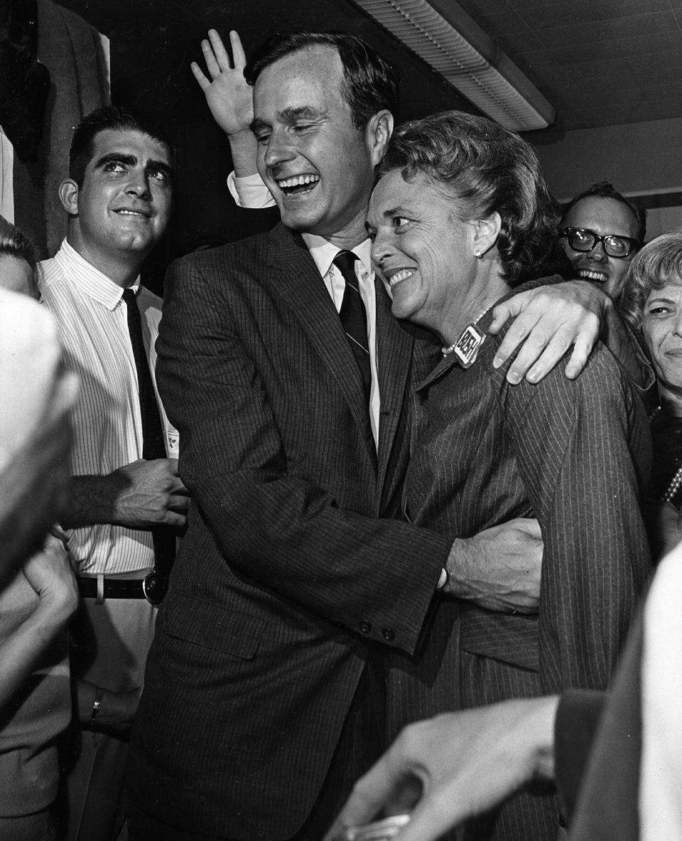
[[[579,278],[599,283],[620,298],[632,257],[646,234],[646,210],[607,181],[576,196],[564,211],[560,240]]]

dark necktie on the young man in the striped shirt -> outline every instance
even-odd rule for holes
[[[124,289],[123,299],[128,312],[128,332],[130,344],[133,346],[135,368],[137,370],[137,385],[140,390],[140,415],[142,416],[142,458],[167,458],[166,447],[163,444],[163,426],[161,415],[156,403],[154,383],[151,381],[149,361],[142,340],[142,322],[140,310],[137,307],[135,293],[132,289]],[[153,526],[151,537],[154,542],[154,573],[156,579],[148,584],[150,600],[161,598],[166,592],[168,574],[171,571],[175,557],[175,530],[172,526]],[[152,598],[153,597],[153,598]],[[156,604],[157,602],[154,601]]]

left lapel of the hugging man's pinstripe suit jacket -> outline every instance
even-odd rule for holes
[[[272,270],[272,289],[289,304],[301,329],[338,383],[366,439],[367,452],[375,461],[362,375],[315,261],[310,257],[302,237],[284,225],[272,230],[269,241],[271,248],[267,262]]]

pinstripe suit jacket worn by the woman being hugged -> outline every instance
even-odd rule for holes
[[[481,321],[485,331],[490,315]],[[651,445],[640,399],[598,344],[573,382],[558,366],[537,386],[492,368],[489,337],[472,368],[449,358],[417,393],[420,437],[405,484],[410,518],[471,537],[536,516],[544,555],[540,614],[441,600],[417,659],[389,671],[391,735],[411,718],[568,687],[604,689],[650,571],[639,500]],[[526,798],[491,837],[556,837],[556,809]],[[553,816],[552,816],[553,809]],[[483,825],[473,837],[487,838]]]

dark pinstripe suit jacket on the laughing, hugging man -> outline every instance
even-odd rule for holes
[[[288,838],[367,644],[415,650],[450,541],[378,518],[399,516],[410,383],[431,360],[380,284],[377,332],[378,457],[357,363],[298,235],[278,225],[169,272],[157,380],[193,506],[131,778],[174,826]]]

